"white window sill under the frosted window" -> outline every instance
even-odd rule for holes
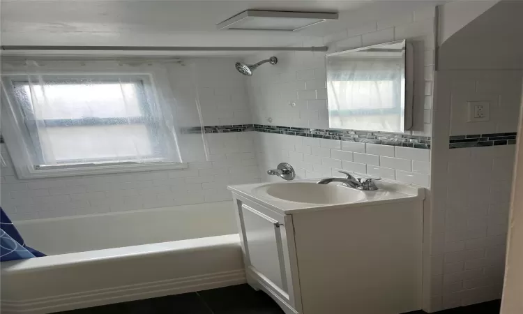
[[[73,177],[92,174],[116,174],[123,172],[144,172],[155,170],[177,170],[187,169],[187,163],[149,163],[136,165],[98,165],[96,167],[74,167],[49,170],[31,170],[29,172],[18,171],[20,179]]]

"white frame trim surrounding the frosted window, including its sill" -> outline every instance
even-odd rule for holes
[[[42,75],[55,75],[55,74],[67,74],[67,75],[149,75],[151,77],[151,83],[154,85],[154,93],[170,93],[170,87],[163,84],[169,84],[168,78],[164,73],[151,72],[151,69],[146,68],[144,71],[137,72],[136,67],[129,67],[126,71],[126,67],[121,65],[118,68],[104,67],[103,70],[98,70],[96,67],[93,69],[79,67],[79,68],[68,68],[61,69],[58,71],[43,71]],[[14,77],[26,75],[23,72],[7,72],[2,73],[2,77],[8,77],[8,80],[13,80]],[[155,78],[153,80],[153,77]],[[163,82],[161,82],[163,81]],[[160,83],[161,82],[161,83]],[[6,97],[7,91],[3,82],[1,83],[1,133],[3,134],[3,140],[7,146],[7,150],[10,156],[24,156],[25,160],[13,160],[13,166],[19,179],[36,179],[36,178],[48,178],[48,177],[71,177],[78,175],[90,175],[90,174],[113,174],[122,172],[146,172],[155,170],[181,170],[187,169],[188,163],[183,162],[158,162],[158,163],[92,163],[82,165],[64,165],[64,166],[48,166],[47,169],[40,167],[38,170],[33,166],[29,165],[31,158],[26,156],[24,142],[24,135],[22,134],[24,128],[24,122],[20,121],[17,114],[12,112],[11,106],[7,105],[8,98]],[[156,95],[158,101],[158,96]],[[170,104],[158,102],[161,106]],[[172,108],[169,108],[172,109]],[[31,144],[29,144],[31,145]],[[11,154],[11,153],[15,154]]]

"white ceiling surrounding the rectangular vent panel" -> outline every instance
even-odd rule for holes
[[[314,45],[322,45],[321,36],[347,28],[349,15],[376,3],[379,2],[1,0],[1,44],[266,47],[314,40]],[[247,9],[339,12],[340,21],[345,22],[328,21],[296,32],[216,30],[216,24]],[[211,52],[236,56],[250,53]]]

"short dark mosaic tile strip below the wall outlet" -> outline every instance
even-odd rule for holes
[[[490,133],[451,136],[448,148],[484,147],[516,144],[517,133]]]

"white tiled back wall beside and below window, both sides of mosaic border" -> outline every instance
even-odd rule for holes
[[[204,125],[251,123],[244,77],[234,70],[234,61],[189,60],[171,73],[177,100],[196,103],[198,92]],[[17,179],[6,144],[1,144],[8,165],[0,169],[1,206],[13,220],[151,209],[229,200],[228,184],[259,181],[252,133],[205,137],[210,160],[189,163],[186,170],[34,180]]]

